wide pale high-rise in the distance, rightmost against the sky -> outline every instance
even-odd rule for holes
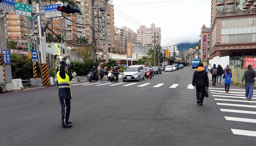
[[[153,43],[154,45],[154,37],[159,37],[159,45],[161,46],[161,28],[155,27],[155,24],[151,24],[150,28],[146,28],[146,26],[140,26],[137,29],[137,43],[149,44]],[[158,39],[156,38],[156,41]],[[158,43],[156,43],[157,45]]]

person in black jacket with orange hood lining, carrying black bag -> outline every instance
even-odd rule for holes
[[[204,70],[204,64],[198,64],[198,68],[193,74],[192,85],[196,89],[196,103],[203,105],[205,87],[209,87],[208,73]]]

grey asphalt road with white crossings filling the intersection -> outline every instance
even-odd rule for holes
[[[0,94],[0,145],[254,146],[255,97],[210,84],[200,106],[192,77],[184,67],[139,82],[72,84],[72,128],[61,127],[58,88]]]

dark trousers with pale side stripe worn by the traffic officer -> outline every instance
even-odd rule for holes
[[[70,114],[70,99],[60,99],[61,102],[61,120],[62,126],[68,125]]]

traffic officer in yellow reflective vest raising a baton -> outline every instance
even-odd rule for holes
[[[76,77],[76,73],[74,72],[71,76],[68,76],[65,72],[69,66],[69,64],[63,61],[63,56],[60,56],[59,71],[57,72],[56,77],[59,82],[62,128],[72,127],[71,122],[68,121],[70,114],[70,99],[72,99],[70,81],[73,77]]]

